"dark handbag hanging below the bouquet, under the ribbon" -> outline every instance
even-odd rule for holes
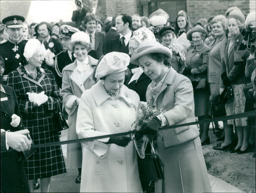
[[[157,181],[164,179],[164,164],[156,154],[153,140],[149,140],[153,153],[145,154],[145,158],[138,157],[139,173],[141,181]]]

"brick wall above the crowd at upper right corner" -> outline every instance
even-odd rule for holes
[[[238,7],[244,15],[255,11],[255,0],[188,0],[187,14],[192,24],[201,18],[209,19],[216,15],[225,15],[229,7]]]

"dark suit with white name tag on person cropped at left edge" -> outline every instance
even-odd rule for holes
[[[18,127],[12,127],[12,115],[20,116],[18,100],[12,87],[2,85],[5,93],[1,92],[1,129],[17,131]],[[7,100],[3,101],[3,98]],[[22,121],[22,120],[21,120]],[[21,123],[20,121],[20,123]],[[1,192],[30,192],[25,170],[20,161],[21,152],[6,150],[5,133],[1,132]]]

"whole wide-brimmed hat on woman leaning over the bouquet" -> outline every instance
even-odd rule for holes
[[[165,47],[164,45],[154,40],[148,40],[148,41],[142,42],[139,45],[137,54],[131,57],[130,62],[132,64],[139,65],[138,58],[150,53],[161,53],[168,56],[169,58],[172,58],[172,51],[169,48]]]

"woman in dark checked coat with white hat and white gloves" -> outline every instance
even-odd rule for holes
[[[24,127],[35,144],[59,142],[53,117],[62,97],[52,72],[41,68],[44,58],[39,40],[29,39],[21,57],[22,65],[9,73],[7,84],[16,93]],[[41,191],[49,192],[51,176],[67,172],[60,145],[36,148],[23,165],[31,192],[34,179],[40,178]]]

